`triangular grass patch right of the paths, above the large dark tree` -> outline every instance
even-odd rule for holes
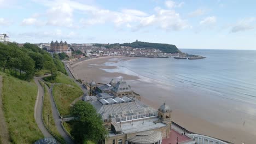
[[[70,104],[82,94],[83,92],[80,87],[66,84],[55,85],[53,88],[53,96],[60,115],[69,115]]]

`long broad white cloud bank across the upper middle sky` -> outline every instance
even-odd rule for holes
[[[183,20],[176,11],[171,9],[156,8],[153,14],[149,15],[136,9],[113,11],[68,0],[44,0],[38,2],[49,7],[46,18],[48,20],[47,24],[52,26],[78,27],[74,26],[74,21],[77,21],[76,25],[80,25],[79,27],[113,23],[117,29],[127,27],[136,31],[147,26],[155,26],[167,31],[178,31],[188,26],[187,21]],[[174,3],[174,7],[181,7],[183,4]],[[79,17],[79,20],[75,20],[73,13],[79,13],[82,17]]]

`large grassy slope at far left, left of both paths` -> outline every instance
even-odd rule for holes
[[[16,79],[0,72],[3,76],[3,107],[12,143],[33,143],[44,136],[34,119],[34,104],[37,85]]]

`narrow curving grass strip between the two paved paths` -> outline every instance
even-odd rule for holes
[[[44,123],[46,127],[48,127],[48,115],[49,115],[49,127],[50,131],[59,139],[62,141],[65,141],[63,137],[60,135],[59,131],[56,128],[54,118],[53,118],[53,112],[51,111],[51,102],[50,102],[50,95],[47,91],[46,86],[44,85],[43,82],[39,81],[40,84],[44,87],[44,103],[43,103],[43,118],[44,118]]]

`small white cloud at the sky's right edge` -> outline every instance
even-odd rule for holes
[[[248,31],[250,29],[253,29],[254,26],[252,26],[252,22],[254,22],[255,20],[256,20],[255,17],[251,17],[251,18],[238,21],[234,26],[232,26],[230,33]]]

